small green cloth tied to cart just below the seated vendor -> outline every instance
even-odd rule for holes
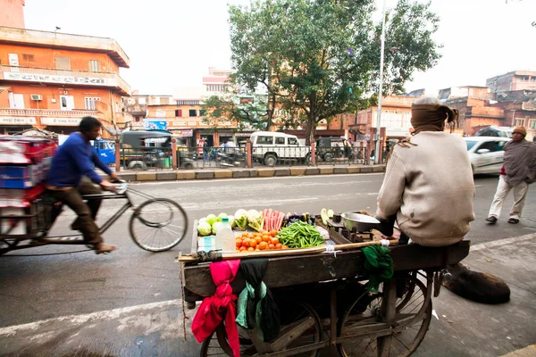
[[[366,286],[371,293],[377,293],[380,284],[393,277],[393,260],[389,248],[371,245],[363,248],[364,272],[369,282]]]

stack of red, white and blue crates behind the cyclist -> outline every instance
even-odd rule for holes
[[[31,214],[32,203],[45,193],[45,180],[56,150],[54,140],[0,136],[0,216]],[[24,220],[0,219],[0,235],[29,233]]]

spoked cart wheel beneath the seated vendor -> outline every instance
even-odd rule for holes
[[[428,331],[431,321],[431,301],[425,306],[427,287],[416,274],[397,278],[396,324],[388,355],[406,357],[415,350]],[[349,356],[378,356],[378,336],[370,336],[374,331],[389,328],[384,324],[381,305],[383,292],[363,295],[350,305],[339,320],[339,337],[353,336],[337,345],[339,354]],[[369,335],[360,337],[359,335]],[[385,334],[383,334],[385,335]]]

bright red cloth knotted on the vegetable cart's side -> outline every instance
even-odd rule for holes
[[[240,260],[213,262],[210,273],[216,285],[214,296],[207,297],[199,306],[192,321],[192,332],[197,342],[205,341],[225,319],[227,341],[235,357],[240,356],[239,330],[235,322],[237,295],[232,294],[230,282],[239,271]]]

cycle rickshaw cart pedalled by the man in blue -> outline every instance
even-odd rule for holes
[[[149,252],[163,252],[180,243],[188,231],[188,218],[179,203],[132,189],[125,181],[116,184],[117,194],[82,195],[87,202],[125,201],[99,228],[101,234],[112,227],[125,212],[132,210],[129,220],[130,237],[140,248]],[[145,201],[136,205],[133,195],[141,196]],[[63,203],[46,193],[37,195],[27,204],[16,208],[0,207],[0,255],[42,245],[87,245],[80,232],[49,236],[49,231],[61,212]]]

